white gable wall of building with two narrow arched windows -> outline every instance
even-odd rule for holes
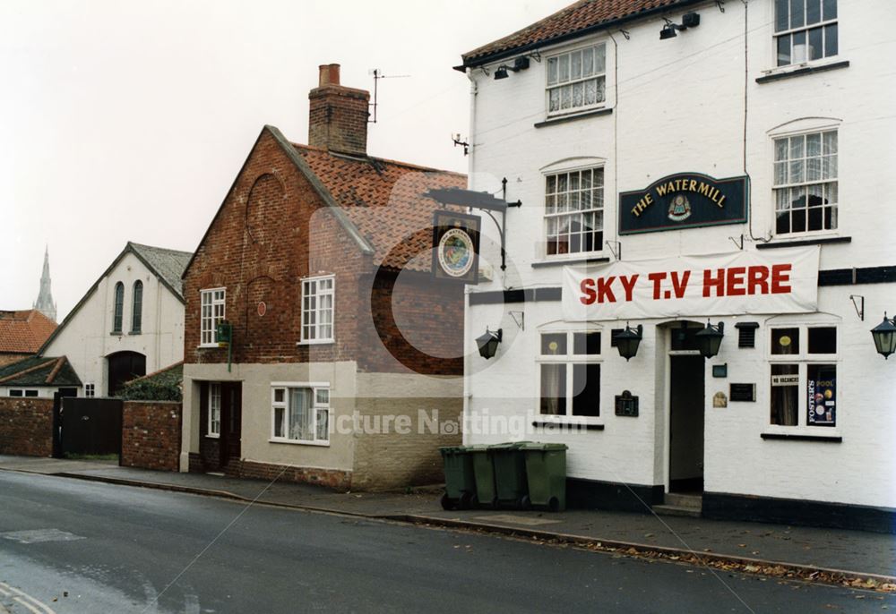
[[[131,335],[137,279],[143,282],[142,326],[140,334]],[[115,286],[119,281],[125,285],[125,308],[122,334],[113,335]],[[82,384],[95,384],[97,397],[102,397],[108,389],[106,357],[122,351],[145,355],[147,373],[184,359],[184,303],[133,253],[126,253],[115,269],[99,280],[94,292],[65,323],[44,355],[68,356]],[[83,388],[79,394],[83,395]]]

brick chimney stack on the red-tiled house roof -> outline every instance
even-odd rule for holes
[[[366,155],[370,92],[340,85],[339,64],[323,64],[320,82],[308,100],[309,145]]]

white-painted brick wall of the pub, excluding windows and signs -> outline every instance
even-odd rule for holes
[[[566,168],[605,168],[604,239],[622,243],[624,260],[731,252],[737,247],[729,237],[739,241],[742,234],[747,236],[745,250],[754,250],[751,233],[757,239],[768,238],[773,230],[772,138],[821,127],[836,127],[840,144],[839,227],[823,236],[851,237],[851,242],[823,245],[820,268],[896,264],[890,222],[896,212],[896,175],[892,173],[896,167],[892,140],[896,80],[887,59],[896,57],[890,33],[893,7],[888,0],[838,4],[839,55],[815,64],[849,61],[849,67],[762,84],[756,83],[757,77],[767,71],[780,72],[774,68],[771,0],[750,2],[748,16],[739,2],[726,3],[725,13],[714,3],[688,8],[700,13],[700,26],[669,40],[659,40],[663,21],[658,15],[624,25],[630,39],[611,30],[542,48],[541,55],[547,57],[586,43],[607,44],[607,107],[613,113],[566,124],[533,126],[545,119],[546,61],[532,61],[530,69],[501,81],[473,70],[470,188],[495,192],[506,176],[508,200],[519,199],[523,205],[509,209],[507,215],[507,273],[502,276],[498,269],[495,245],[484,242],[485,260],[495,270],[495,279],[471,290],[561,286],[562,266],[536,269],[531,264],[545,260],[544,174]],[[685,10],[667,16],[680,22],[681,13]],[[745,169],[751,177],[752,226],[616,236],[618,192],[642,190],[674,173],[725,178],[744,175]],[[496,241],[492,226],[483,220],[484,232]],[[590,255],[615,260],[606,248]],[[850,294],[865,296],[864,321],[858,319]],[[832,286],[819,288],[815,315],[779,316],[767,323],[768,314],[739,319],[705,314],[726,325],[721,352],[706,367],[705,490],[896,507],[892,468],[896,365],[874,352],[868,332],[880,322],[884,310],[896,311],[894,298],[892,284]],[[525,330],[507,311],[525,312]],[[560,319],[557,302],[468,308],[467,351],[473,354],[466,364],[468,413],[486,408],[492,414],[507,415],[537,411],[538,327]],[[705,322],[705,318],[692,320]],[[760,324],[754,349],[737,349],[734,324],[738,320]],[[760,434],[771,431],[767,326],[809,320],[838,328],[837,427],[788,432],[837,434],[843,441],[764,440]],[[599,420],[604,431],[575,436],[538,431],[526,439],[568,443],[573,477],[668,483],[668,362],[665,345],[657,343],[661,329],[656,328],[663,321],[668,320],[631,322],[644,324],[644,340],[637,357],[628,363],[609,346],[609,328],[620,328],[625,322],[593,323],[604,331]],[[486,327],[498,326],[504,328],[504,342],[498,356],[486,362],[476,355],[473,339]],[[712,378],[710,365],[722,362],[728,363],[728,378]],[[712,395],[719,390],[728,394],[729,382],[755,383],[756,402],[713,408]],[[613,415],[613,396],[624,388],[641,398],[637,418]],[[467,443],[503,439],[507,438],[465,435]]]

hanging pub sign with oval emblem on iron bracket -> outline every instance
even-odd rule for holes
[[[437,210],[433,215],[433,275],[475,285],[479,281],[479,218]]]

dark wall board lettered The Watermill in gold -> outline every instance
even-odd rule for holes
[[[635,235],[722,224],[743,224],[749,180],[701,173],[668,175],[644,190],[620,192],[619,234]]]

